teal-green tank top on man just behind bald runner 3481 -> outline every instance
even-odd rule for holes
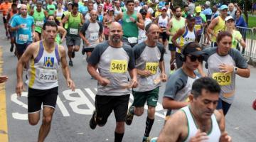
[[[138,19],[137,12],[134,12],[132,16],[129,16],[127,15],[126,12],[124,12],[123,18],[122,18],[122,29],[124,31],[124,36],[127,38],[130,38],[130,37],[138,38],[138,35],[139,35],[138,26],[136,23],[133,23],[130,20],[130,17],[134,18],[135,21],[137,21]]]

